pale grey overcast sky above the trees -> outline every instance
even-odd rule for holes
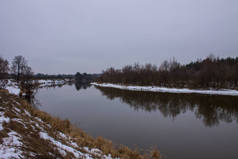
[[[238,56],[238,0],[0,0],[0,56],[35,72]]]

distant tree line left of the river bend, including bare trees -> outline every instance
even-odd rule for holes
[[[34,74],[31,67],[28,65],[28,62],[25,57],[21,55],[15,56],[11,63],[9,63],[8,60],[0,57],[0,88],[4,88],[6,86],[8,79],[15,79],[19,84],[33,83],[33,80],[39,79],[69,79],[70,81],[76,81],[78,83],[90,83],[98,76],[98,74],[81,74],[79,72],[77,72],[76,74],[56,75],[49,75],[43,73]]]

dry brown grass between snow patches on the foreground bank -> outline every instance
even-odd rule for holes
[[[39,137],[39,132],[41,130],[38,127],[34,128],[32,126],[33,121],[44,128],[50,136],[57,138],[56,132],[65,133],[79,146],[98,148],[106,155],[111,154],[112,157],[119,157],[123,159],[161,159],[161,155],[158,150],[152,150],[150,153],[142,155],[138,151],[131,150],[126,146],[116,147],[111,141],[106,140],[103,137],[93,138],[80,128],[73,126],[68,120],[60,120],[59,118],[52,117],[45,112],[37,110],[25,100],[9,94],[6,90],[0,90],[0,97],[0,110],[4,110],[4,115],[10,119],[20,118],[24,123],[20,124],[15,120],[10,120],[9,123],[4,123],[5,129],[0,132],[0,143],[2,143],[2,138],[6,137],[10,130],[16,131],[22,136],[24,146],[21,147],[21,149],[24,152],[24,156],[28,156],[26,158],[34,158],[30,156],[29,152],[34,153],[36,158],[73,158],[73,155],[70,153],[66,156],[62,156],[55,149],[55,147],[49,143],[49,141],[41,139]],[[19,105],[17,103],[19,103]],[[21,112],[17,113],[15,108],[19,109]],[[28,116],[25,113],[25,110],[28,111],[31,116]],[[39,122],[35,117],[40,118],[43,122]],[[62,143],[66,143],[66,141],[61,138],[58,140],[61,140]],[[49,155],[49,152],[54,154],[54,157]],[[95,158],[100,158],[100,156],[95,156]]]

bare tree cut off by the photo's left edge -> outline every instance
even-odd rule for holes
[[[8,61],[0,57],[0,88],[4,88],[7,84],[8,71]]]

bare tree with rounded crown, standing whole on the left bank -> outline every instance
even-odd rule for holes
[[[16,75],[17,81],[20,80],[21,75],[24,73],[24,70],[29,67],[27,66],[27,61],[21,55],[15,56],[12,61],[11,71]]]

